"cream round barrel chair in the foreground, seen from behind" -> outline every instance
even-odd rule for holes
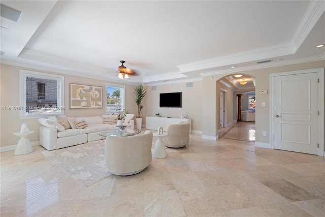
[[[152,133],[135,136],[107,136],[105,161],[108,170],[115,175],[133,175],[146,169],[151,163]]]

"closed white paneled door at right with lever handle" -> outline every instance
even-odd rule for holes
[[[274,77],[274,148],[318,154],[318,73]]]

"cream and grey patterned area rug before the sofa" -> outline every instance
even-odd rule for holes
[[[86,187],[110,175],[105,163],[105,140],[42,153],[61,170]]]

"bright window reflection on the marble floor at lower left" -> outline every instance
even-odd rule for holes
[[[41,177],[26,180],[27,215],[38,212],[58,201],[57,178],[45,183]]]

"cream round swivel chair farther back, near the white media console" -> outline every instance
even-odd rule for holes
[[[189,143],[190,123],[181,121],[178,124],[170,125],[167,129],[165,146],[170,148],[181,148]]]

